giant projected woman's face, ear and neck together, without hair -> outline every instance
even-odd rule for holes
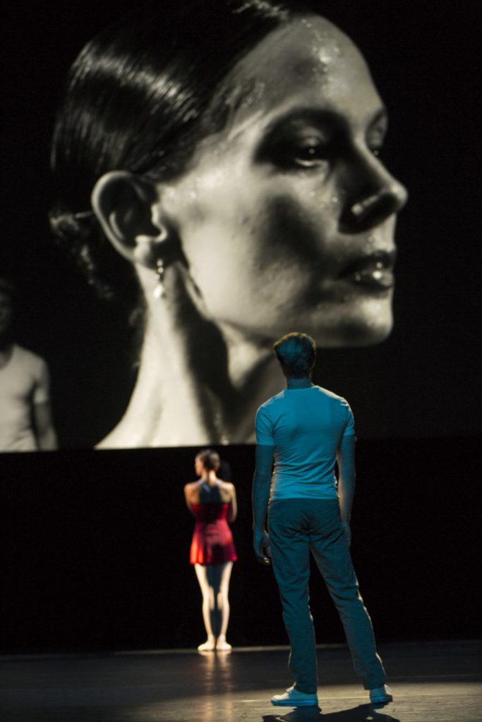
[[[119,161],[92,189],[145,299],[132,398],[101,448],[252,443],[257,407],[283,386],[276,339],[358,347],[392,329],[406,192],[378,157],[387,114],[357,48],[307,14],[216,88],[186,170]]]

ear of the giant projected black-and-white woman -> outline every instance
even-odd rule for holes
[[[114,248],[131,263],[155,269],[158,247],[168,240],[160,214],[152,219],[158,201],[155,186],[124,170],[101,176],[92,191],[92,209]]]

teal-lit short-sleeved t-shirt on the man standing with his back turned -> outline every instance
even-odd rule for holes
[[[336,499],[337,449],[354,433],[348,402],[321,386],[286,388],[265,401],[256,441],[275,447],[271,499]]]

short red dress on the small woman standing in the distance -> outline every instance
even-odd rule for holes
[[[196,518],[191,541],[191,564],[236,562],[233,534],[228,526],[229,504],[191,504]]]

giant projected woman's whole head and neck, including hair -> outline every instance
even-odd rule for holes
[[[53,230],[98,284],[111,246],[142,298],[137,383],[100,448],[251,442],[278,336],[357,346],[392,326],[406,193],[356,47],[270,4],[162,12],[82,51],[53,144]]]

